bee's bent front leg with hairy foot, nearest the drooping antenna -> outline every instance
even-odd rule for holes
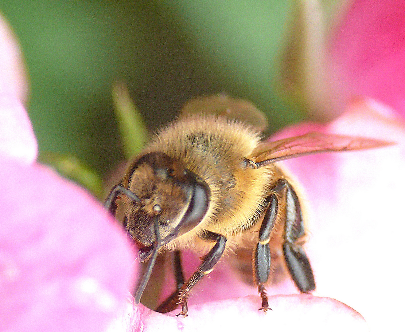
[[[192,276],[183,284],[179,294],[179,301],[177,304],[181,304],[181,313],[177,316],[187,317],[188,305],[187,299],[189,292],[194,285],[209,274],[215,264],[220,260],[225,250],[226,237],[217,233],[208,232],[210,240],[215,240],[216,243],[209,253],[204,257],[203,263],[198,267],[198,270],[192,274]]]

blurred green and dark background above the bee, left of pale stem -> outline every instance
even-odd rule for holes
[[[222,91],[262,109],[270,131],[302,120],[278,85],[291,9],[291,0],[0,0],[26,57],[39,150],[75,155],[99,174],[125,159],[115,81],[128,82],[148,129]]]

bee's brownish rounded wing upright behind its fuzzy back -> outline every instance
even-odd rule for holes
[[[240,120],[252,125],[254,129],[260,132],[264,131],[268,126],[266,116],[256,106],[243,99],[230,98],[226,93],[191,99],[184,105],[180,115],[201,113],[216,114]]]

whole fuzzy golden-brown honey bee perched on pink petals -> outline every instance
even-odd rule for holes
[[[288,272],[303,293],[315,289],[303,249],[306,230],[300,199],[276,162],[317,152],[376,148],[386,141],[307,133],[264,141],[266,118],[252,104],[224,94],[190,101],[177,120],[160,129],[128,164],[106,208],[123,206],[123,225],[148,261],[135,294],[139,304],[156,257],[175,251],[178,288],[158,311],[181,305],[188,315],[192,287],[209,274],[224,252],[243,244],[252,248],[253,279],[261,297],[259,310],[271,310],[265,285],[271,256],[281,251]],[[179,251],[206,253],[185,281]]]

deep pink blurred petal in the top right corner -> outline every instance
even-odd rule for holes
[[[357,0],[337,27],[328,54],[339,109],[370,96],[405,116],[405,1]]]

